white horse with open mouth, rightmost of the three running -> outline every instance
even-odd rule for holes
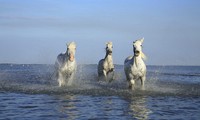
[[[146,65],[143,59],[146,56],[142,52],[142,43],[144,38],[133,42],[134,56],[129,56],[124,61],[124,71],[126,79],[129,82],[129,88],[134,89],[135,80],[141,80],[142,89],[144,89],[144,81],[146,80]]]

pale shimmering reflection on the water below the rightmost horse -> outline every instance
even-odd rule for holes
[[[130,114],[138,120],[147,120],[151,110],[147,108],[147,98],[145,96],[133,97],[131,99]]]

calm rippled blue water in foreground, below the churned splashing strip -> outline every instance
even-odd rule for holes
[[[200,118],[200,98],[174,96],[38,95],[0,92],[0,119],[185,119]]]

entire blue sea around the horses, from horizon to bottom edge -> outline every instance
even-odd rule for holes
[[[79,65],[73,85],[58,87],[53,65],[0,64],[0,119],[200,118],[200,67],[148,66],[145,90],[98,82],[96,65]]]

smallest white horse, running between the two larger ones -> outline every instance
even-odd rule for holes
[[[112,42],[106,43],[106,56],[98,63],[98,77],[111,82],[114,79],[114,64],[112,59]],[[111,77],[111,78],[109,78]]]

